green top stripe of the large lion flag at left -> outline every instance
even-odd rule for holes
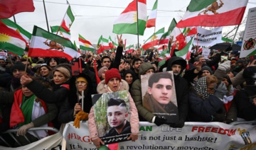
[[[73,43],[70,40],[67,40],[67,39],[60,37],[58,35],[55,35],[53,33],[48,33],[46,30],[43,30],[42,28],[39,28],[36,25],[33,28],[33,36],[44,37],[48,40],[53,40],[57,43],[60,43],[61,45],[65,46],[65,47],[70,47],[71,49],[77,51],[75,49],[75,46],[73,45]]]

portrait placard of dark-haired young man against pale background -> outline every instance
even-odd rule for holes
[[[166,122],[178,121],[178,106],[173,71],[141,76],[142,105],[154,115],[166,118]]]

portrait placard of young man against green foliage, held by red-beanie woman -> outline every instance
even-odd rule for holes
[[[92,95],[98,137],[105,144],[127,141],[131,134],[128,91]]]

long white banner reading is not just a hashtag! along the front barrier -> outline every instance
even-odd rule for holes
[[[149,122],[140,122],[140,135],[136,142],[120,142],[119,149],[171,149],[171,150],[223,150],[256,149],[256,130],[252,125],[227,125],[220,122],[186,122],[183,128],[169,125],[157,127]],[[96,149],[92,144],[87,122],[80,129],[73,122],[63,131],[68,150]]]

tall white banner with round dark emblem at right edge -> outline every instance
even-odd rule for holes
[[[245,33],[242,39],[240,58],[256,54],[256,7],[248,11]]]

